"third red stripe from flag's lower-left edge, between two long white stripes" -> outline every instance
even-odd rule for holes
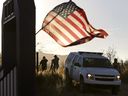
[[[52,16],[52,15],[50,15]],[[52,16],[54,17],[54,16]],[[67,32],[69,32],[76,40],[79,40],[80,38],[68,27],[66,26],[63,22],[61,22],[57,17],[54,19],[59,25],[61,25]]]

